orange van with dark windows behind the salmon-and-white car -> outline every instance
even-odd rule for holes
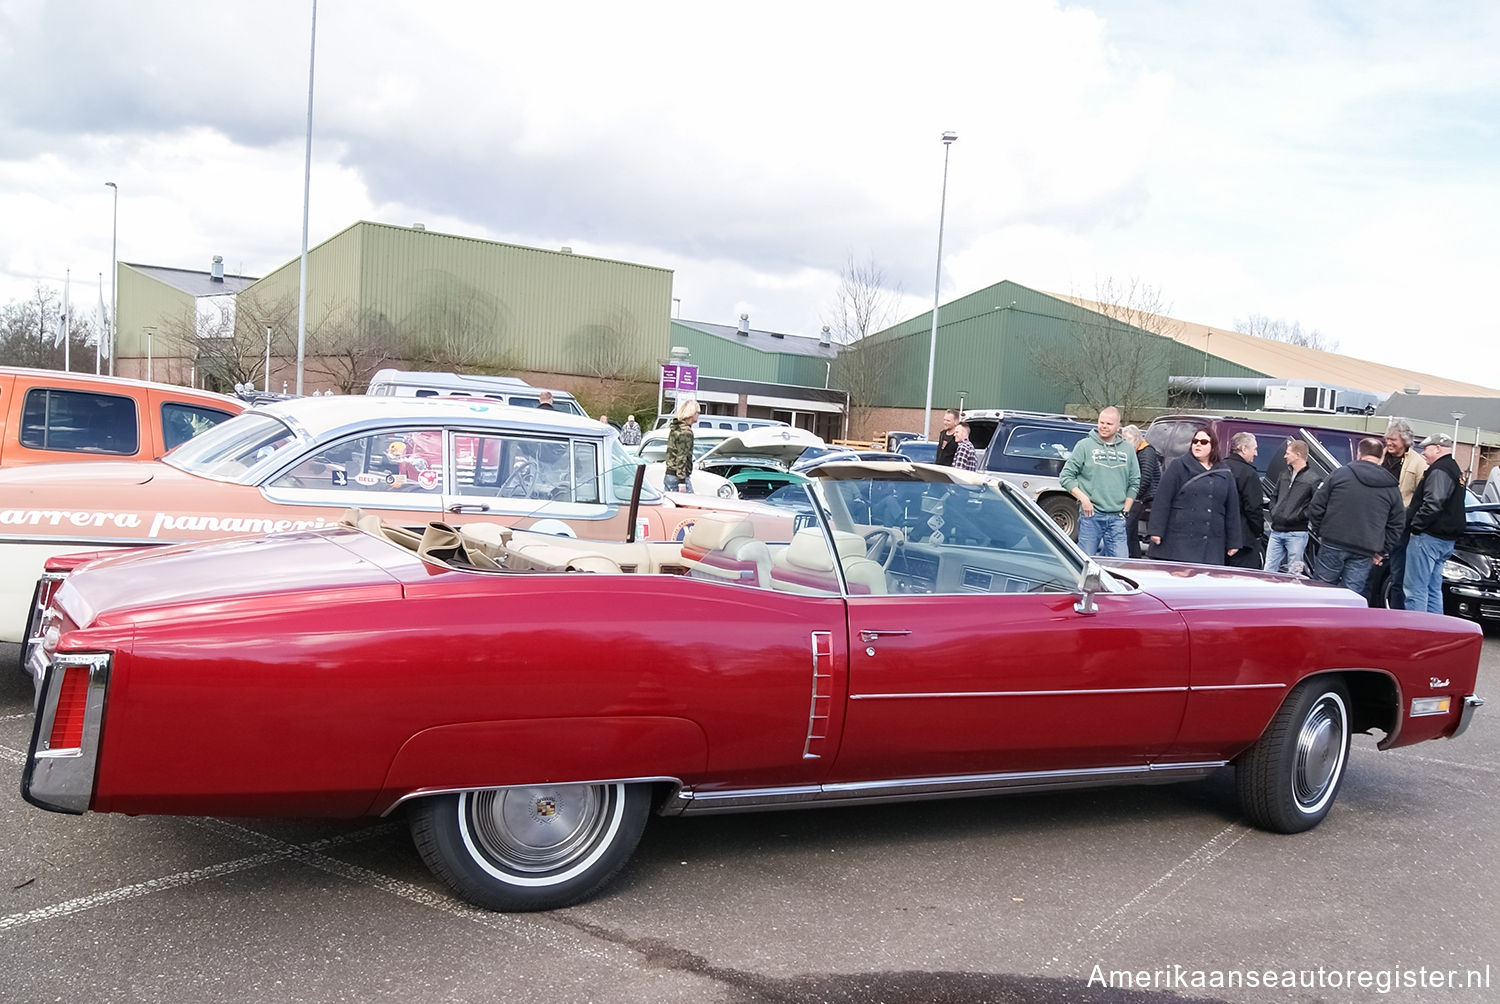
[[[152,461],[243,410],[174,384],[0,366],[0,467]]]

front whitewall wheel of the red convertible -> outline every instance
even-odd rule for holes
[[[1348,738],[1348,689],[1342,680],[1304,680],[1236,761],[1244,813],[1274,833],[1316,827],[1344,780]]]

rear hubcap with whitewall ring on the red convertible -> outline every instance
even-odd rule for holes
[[[537,875],[586,857],[610,825],[616,785],[502,788],[465,795],[478,849],[508,872]]]

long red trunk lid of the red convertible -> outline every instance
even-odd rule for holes
[[[183,618],[195,611],[226,617],[228,606],[246,597],[290,609],[302,602],[297,593],[316,591],[318,603],[334,602],[342,590],[376,587],[399,594],[402,579],[436,572],[408,551],[336,527],[122,551],[76,569],[54,603],[80,627],[120,617],[132,623]]]

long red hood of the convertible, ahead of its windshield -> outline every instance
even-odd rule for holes
[[[1100,564],[1179,611],[1366,606],[1365,597],[1341,585],[1324,585],[1292,575],[1176,561],[1113,558],[1100,560]]]

